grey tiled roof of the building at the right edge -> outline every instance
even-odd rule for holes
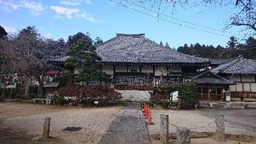
[[[212,69],[215,74],[256,74],[256,61],[243,58],[242,55],[222,62]]]

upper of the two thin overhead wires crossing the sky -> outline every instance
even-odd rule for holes
[[[111,0],[111,1],[112,1],[112,0]],[[178,20],[178,21],[181,21],[181,22],[185,22],[185,23],[187,23],[187,24],[192,24],[192,25],[194,25],[194,26],[199,26],[199,27],[202,27],[202,28],[207,28],[207,29],[215,30],[215,31],[222,32],[222,33],[227,33],[227,34],[232,34],[232,35],[238,35],[238,36],[240,36],[239,34],[234,34],[234,33],[232,33],[232,32],[225,32],[225,31],[223,31],[223,30],[218,30],[218,29],[216,29],[216,28],[211,28],[211,27],[209,27],[209,26],[202,26],[202,25],[196,24],[196,23],[194,23],[194,22],[188,22],[188,21],[186,21],[186,20],[182,20],[182,19],[179,19],[179,18],[175,18],[175,17],[173,17],[173,16],[168,16],[168,15],[163,14],[163,13],[159,14],[159,12],[156,12],[155,10],[146,8],[146,7],[144,7],[144,6],[140,6],[140,5],[138,5],[138,4],[134,3],[134,2],[131,2],[131,1],[129,1],[129,0],[123,0],[123,1],[129,2],[130,4],[133,4],[133,5],[135,5],[135,6],[138,6],[138,7],[140,7],[140,8],[145,9],[145,10],[149,10],[149,11],[151,11],[151,12],[157,13],[157,14],[158,14],[158,17],[159,17],[160,15],[162,15],[162,16],[166,16],[166,17],[168,17],[168,18],[172,18],[172,19],[174,19],[174,20]],[[114,2],[114,1],[112,1],[112,2]],[[115,3],[119,4],[118,2],[115,2]],[[129,7],[129,6],[127,6],[127,7]],[[156,17],[156,18],[158,18],[158,17]],[[158,18],[158,19],[159,19],[159,18]]]

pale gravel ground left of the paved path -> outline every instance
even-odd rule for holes
[[[19,104],[18,104],[19,105]],[[26,106],[30,109],[30,104],[21,104],[16,108],[21,110]],[[31,104],[33,108],[33,105]],[[40,107],[37,110],[44,109],[45,106],[37,105]],[[47,107],[47,106],[46,106]],[[58,106],[57,106],[58,107]],[[1,107],[0,107],[1,108]],[[28,136],[33,136],[32,139],[36,140],[42,135],[43,120],[45,117],[51,117],[50,136],[57,138],[58,141],[68,144],[96,144],[99,142],[102,134],[106,132],[111,122],[114,120],[115,115],[120,111],[121,107],[106,107],[106,108],[56,108],[55,110],[43,110],[34,112],[33,114],[24,114],[25,116],[8,116],[4,118],[1,128],[11,128],[13,131],[23,131]],[[21,111],[20,110],[20,111]],[[17,109],[12,109],[17,111]],[[19,110],[18,110],[19,111]],[[5,112],[7,114],[7,112]],[[16,113],[16,112],[14,112]],[[23,113],[21,111],[21,113]],[[63,131],[66,127],[82,127],[80,131],[70,132]]]

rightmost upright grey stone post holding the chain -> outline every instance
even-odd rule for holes
[[[215,137],[220,142],[225,140],[225,127],[224,127],[224,115],[216,114],[215,116],[216,123],[216,134]]]

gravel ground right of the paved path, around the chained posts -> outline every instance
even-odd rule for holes
[[[172,126],[174,124],[180,127],[186,128],[199,128],[196,130],[192,130],[195,132],[215,132],[216,126],[214,122],[214,116],[217,113],[222,113],[225,116],[226,120],[230,120],[235,122],[235,124],[228,124],[225,122],[225,133],[226,134],[245,134],[249,136],[256,136],[256,123],[255,123],[255,115],[256,110],[152,110],[152,121],[154,125],[148,125],[148,131],[150,135],[155,135],[160,133],[160,114],[168,114],[169,115],[169,132],[176,132],[176,127]],[[252,121],[254,119],[254,122]],[[212,124],[210,124],[212,123]],[[210,124],[210,125],[208,125]],[[204,128],[200,128],[202,126],[206,126]],[[238,143],[237,141],[227,141],[223,144],[232,144]],[[154,144],[154,142],[152,142]],[[200,143],[216,143],[211,138],[196,138],[192,140],[194,144]],[[254,142],[255,144],[256,142]],[[157,144],[157,142],[156,142]],[[247,144],[241,142],[241,144]]]

